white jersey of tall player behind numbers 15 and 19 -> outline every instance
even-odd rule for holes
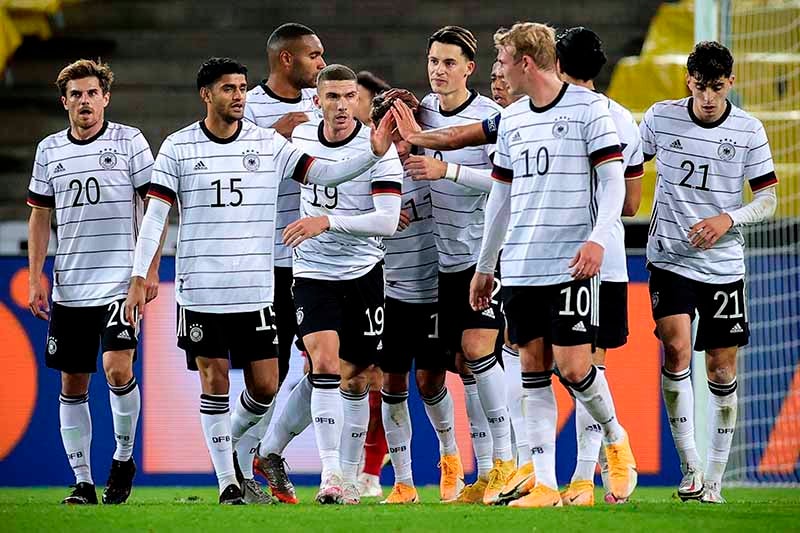
[[[262,81],[247,91],[244,118],[262,128],[271,128],[282,116],[296,111],[305,112],[309,120],[317,119],[314,89],[302,89],[297,98],[283,98]],[[292,266],[292,249],[280,238],[286,226],[300,218],[300,184],[284,180],[278,187],[278,218],[275,223],[275,266]]]

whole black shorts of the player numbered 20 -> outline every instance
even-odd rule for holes
[[[134,350],[139,335],[125,320],[125,300],[93,307],[53,303],[47,332],[45,363],[67,374],[97,372],[97,350]]]

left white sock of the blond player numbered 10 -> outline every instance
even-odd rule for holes
[[[556,483],[556,396],[553,393],[552,370],[523,372],[525,390],[525,425],[531,446],[536,484],[558,489]]]

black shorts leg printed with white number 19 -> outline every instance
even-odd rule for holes
[[[378,263],[363,276],[345,283],[343,325],[339,358],[355,367],[378,362],[383,348],[386,313],[383,265]]]

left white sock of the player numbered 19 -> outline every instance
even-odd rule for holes
[[[339,463],[344,417],[342,395],[339,393],[341,377],[338,374],[312,374],[311,384],[311,419],[324,480],[331,474],[342,475]]]

